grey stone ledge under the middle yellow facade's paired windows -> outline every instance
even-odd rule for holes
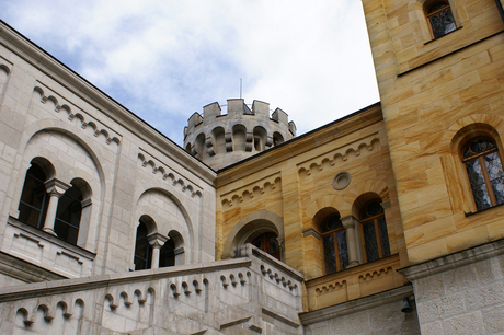
[[[313,312],[305,312],[299,314],[301,324],[303,326],[310,325],[312,323],[328,321],[331,319],[336,319],[346,314],[355,313],[358,311],[368,310],[375,307],[379,307],[389,302],[402,300],[404,297],[410,297],[413,294],[413,287],[406,285],[400,288],[396,288],[389,291],[377,293],[374,296],[352,300],[348,302],[343,302],[336,305],[328,307],[321,310]],[[398,310],[398,313],[401,313]]]

